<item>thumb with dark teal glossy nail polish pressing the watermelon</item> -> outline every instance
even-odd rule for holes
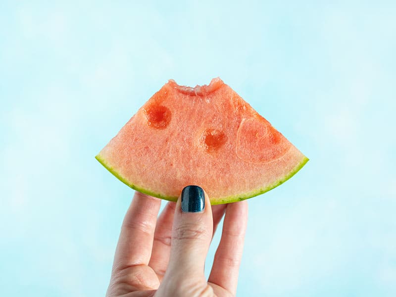
[[[173,280],[206,284],[204,265],[213,234],[212,208],[198,186],[187,186],[177,200],[172,228],[171,251],[163,283]],[[193,285],[193,284],[191,284]]]

